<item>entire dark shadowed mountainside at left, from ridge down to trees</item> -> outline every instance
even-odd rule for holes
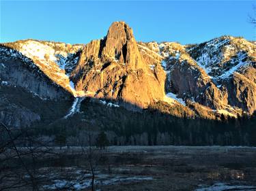
[[[0,48],[0,80],[0,121],[8,126],[30,126],[42,119],[40,114],[55,108],[40,111],[45,103],[72,99],[32,60],[10,48]]]

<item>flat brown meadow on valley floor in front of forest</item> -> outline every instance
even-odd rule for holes
[[[48,176],[48,172],[54,177],[43,188],[52,190],[72,183],[68,190],[89,190],[91,175],[86,158],[80,155],[81,148],[54,150],[61,153],[61,159],[51,158],[50,163],[38,167],[42,177]],[[83,180],[77,181],[82,174]],[[111,146],[96,166],[95,187],[96,190],[256,190],[256,147]]]

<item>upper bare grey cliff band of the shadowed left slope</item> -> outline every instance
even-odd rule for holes
[[[25,88],[42,99],[70,99],[71,94],[50,80],[29,58],[14,51],[10,54],[8,48],[1,48],[0,56],[0,78],[9,86]]]

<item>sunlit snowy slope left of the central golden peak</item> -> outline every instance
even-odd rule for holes
[[[79,50],[83,47],[82,45],[71,46],[29,39],[5,44],[5,46],[14,48],[27,58],[31,58],[33,63],[53,82],[74,94],[74,97],[83,96],[83,92],[76,92],[69,77],[79,59]]]

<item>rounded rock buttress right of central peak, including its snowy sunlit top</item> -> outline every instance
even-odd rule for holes
[[[165,84],[167,92],[212,109],[223,109],[227,105],[227,91],[216,87],[211,77],[197,65],[183,46],[162,44],[160,52],[168,73]]]

